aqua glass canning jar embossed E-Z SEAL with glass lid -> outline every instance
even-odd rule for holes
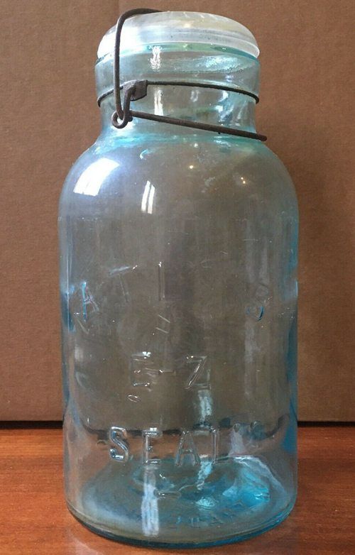
[[[126,542],[234,542],[295,502],[295,190],[256,138],[112,126],[114,35],[60,199],[67,504]],[[244,89],[156,84],[134,109],[253,133],[257,57],[235,21],[151,13],[124,24],[121,79]]]

